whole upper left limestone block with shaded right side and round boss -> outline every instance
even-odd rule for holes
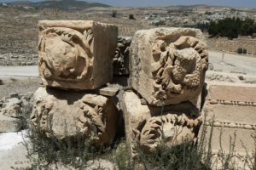
[[[113,77],[117,26],[92,20],[40,20],[38,65],[45,86],[95,89]]]

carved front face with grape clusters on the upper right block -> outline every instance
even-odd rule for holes
[[[161,105],[184,93],[195,95],[193,91],[201,88],[207,71],[207,45],[191,36],[180,36],[174,42],[158,37],[152,50],[153,104]]]

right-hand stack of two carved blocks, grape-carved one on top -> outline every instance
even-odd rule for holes
[[[137,145],[152,152],[163,141],[173,146],[196,140],[201,127],[197,100],[208,65],[201,31],[137,31],[130,48],[130,81],[135,91],[124,93],[123,108],[133,156]]]

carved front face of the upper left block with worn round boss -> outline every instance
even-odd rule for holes
[[[44,28],[39,39],[39,67],[49,80],[82,82],[90,76],[93,34],[66,27]]]

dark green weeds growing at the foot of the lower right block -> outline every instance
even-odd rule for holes
[[[174,147],[160,144],[157,151],[148,155],[140,155],[139,160],[143,162],[146,169],[154,170],[210,170],[210,165],[202,162],[201,152],[191,142],[185,142]]]

